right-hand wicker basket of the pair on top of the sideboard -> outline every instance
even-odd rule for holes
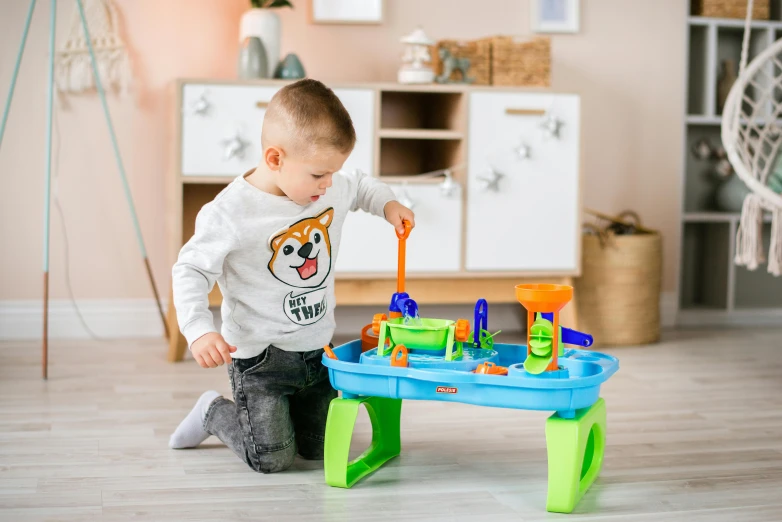
[[[551,85],[551,39],[546,36],[521,41],[496,36],[491,56],[494,85]]]

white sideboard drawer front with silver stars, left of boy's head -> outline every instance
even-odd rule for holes
[[[187,84],[182,93],[182,174],[238,176],[258,165],[266,104],[277,86]]]

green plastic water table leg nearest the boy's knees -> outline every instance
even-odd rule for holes
[[[372,422],[372,444],[353,461],[348,461],[350,440],[361,404]],[[326,484],[349,488],[380,466],[399,455],[402,449],[400,421],[402,400],[381,397],[334,399],[326,421],[323,467]]]

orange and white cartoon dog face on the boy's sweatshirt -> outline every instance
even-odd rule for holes
[[[329,225],[334,209],[302,219],[269,241],[273,255],[269,271],[283,283],[297,288],[317,288],[331,272]]]

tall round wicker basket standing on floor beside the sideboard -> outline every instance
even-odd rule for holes
[[[626,215],[634,216],[625,212],[617,219],[627,222]],[[595,346],[658,341],[661,280],[662,239],[656,231],[585,234],[582,275],[574,282],[578,329],[591,334]]]

